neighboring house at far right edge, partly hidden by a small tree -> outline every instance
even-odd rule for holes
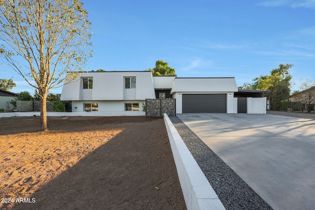
[[[315,105],[315,86],[301,92],[297,92],[291,97],[291,102],[301,102],[303,108],[307,110],[308,105],[310,104],[311,110],[314,110]]]

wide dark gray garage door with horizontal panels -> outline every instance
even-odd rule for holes
[[[183,113],[226,113],[226,94],[183,94]]]

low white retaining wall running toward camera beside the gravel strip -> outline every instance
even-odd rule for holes
[[[188,210],[225,210],[216,192],[166,114],[165,126]]]

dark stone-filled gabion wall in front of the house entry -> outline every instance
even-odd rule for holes
[[[166,113],[168,116],[176,116],[175,98],[165,99],[146,99],[146,117],[163,117]]]

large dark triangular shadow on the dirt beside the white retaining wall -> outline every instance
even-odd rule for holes
[[[124,131],[13,209],[186,209],[163,120],[115,127]]]

